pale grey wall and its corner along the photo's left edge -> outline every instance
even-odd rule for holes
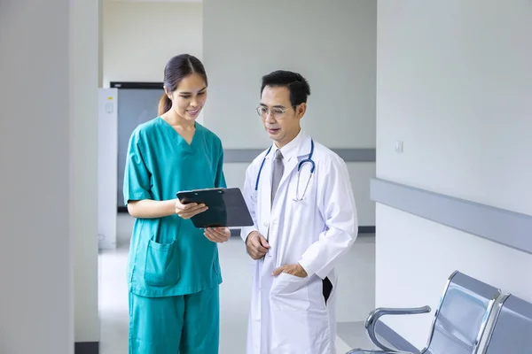
[[[0,352],[73,353],[98,341],[98,2],[1,8]]]

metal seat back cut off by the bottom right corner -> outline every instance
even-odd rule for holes
[[[505,294],[487,337],[482,354],[532,353],[532,304]]]

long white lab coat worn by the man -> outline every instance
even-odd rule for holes
[[[270,207],[272,160],[266,156],[258,190],[257,173],[266,150],[246,170],[243,194],[254,227],[243,227],[242,238],[258,230],[270,243],[262,259],[253,261],[253,289],[247,331],[247,354],[334,354],[337,261],[355,242],[358,224],[348,169],[332,150],[314,142],[316,170],[301,202],[293,201],[297,165],[310,152],[310,137],[298,136],[296,157],[285,161],[285,173]],[[301,167],[299,196],[309,179],[310,164]],[[306,278],[281,273],[278,266],[300,263]],[[327,304],[323,279],[332,282]]]

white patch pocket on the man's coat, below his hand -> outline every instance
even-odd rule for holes
[[[271,306],[278,311],[301,312],[310,307],[308,278],[280,273],[273,281]]]

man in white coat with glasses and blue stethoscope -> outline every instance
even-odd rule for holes
[[[273,143],[244,186],[254,219],[241,232],[254,259],[247,354],[336,352],[335,266],[356,240],[356,204],[345,162],[301,129],[309,94],[299,73],[262,78],[257,112]]]

